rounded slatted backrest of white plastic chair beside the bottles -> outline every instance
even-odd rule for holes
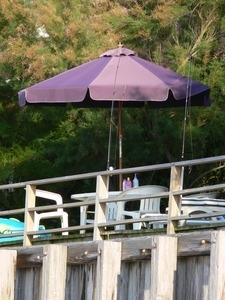
[[[160,213],[160,197],[157,198],[141,198],[143,195],[157,194],[167,192],[168,188],[161,185],[144,185],[126,190],[120,194],[122,197],[140,195],[140,212]]]

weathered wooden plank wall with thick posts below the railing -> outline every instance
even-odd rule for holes
[[[4,247],[0,298],[222,300],[224,239],[220,228]]]

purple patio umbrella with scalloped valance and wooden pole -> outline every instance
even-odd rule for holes
[[[75,108],[119,110],[119,168],[122,168],[122,107],[209,106],[208,86],[144,60],[118,47],[99,58],[19,92],[19,105],[72,103]],[[119,179],[120,189],[122,175]]]

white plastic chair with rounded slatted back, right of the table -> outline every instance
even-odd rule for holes
[[[127,210],[120,210],[117,213],[117,220],[124,219],[125,216],[130,216],[133,219],[139,219],[144,217],[157,217],[157,216],[167,216],[166,214],[162,214],[160,212],[160,197],[157,198],[142,198],[142,196],[150,195],[150,194],[157,194],[161,192],[166,192],[168,189],[164,186],[159,185],[146,185],[146,186],[139,186],[136,188],[131,188],[122,192],[119,197],[128,198],[129,196],[140,196],[140,207],[137,211],[127,211]],[[129,201],[129,200],[127,200]],[[145,222],[144,222],[145,223]],[[153,228],[162,228],[166,221],[152,221],[148,222],[148,226],[151,224]],[[133,229],[141,229],[142,222],[133,223]]]

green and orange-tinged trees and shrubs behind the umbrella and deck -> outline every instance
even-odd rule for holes
[[[224,0],[5,0],[0,2],[0,183],[106,169],[110,111],[18,105],[19,90],[97,58],[122,42],[138,55],[201,81],[212,105],[191,108],[184,159],[224,154]],[[184,109],[123,110],[124,167],[181,159]],[[115,112],[111,165],[117,166]],[[215,167],[215,166],[212,166]],[[190,168],[187,185],[223,178]],[[163,176],[140,178],[163,183]],[[93,189],[63,184],[58,191]],[[1,208],[18,203],[1,195]],[[22,200],[24,201],[24,200]]]

